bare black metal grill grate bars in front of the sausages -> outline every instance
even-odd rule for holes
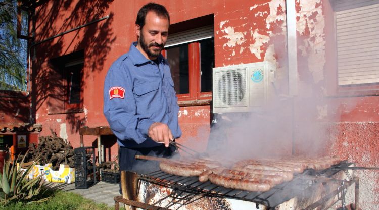
[[[229,189],[215,185],[209,181],[199,182],[198,177],[176,176],[163,171],[140,175],[139,179],[173,189],[172,193],[166,197],[172,200],[165,206],[166,208],[170,208],[176,204],[186,205],[204,196],[239,199],[262,204],[267,207],[274,207],[304,193],[305,190],[317,182],[341,182],[341,180],[328,177],[341,171],[336,170],[339,167],[349,165],[351,165],[351,163],[344,161],[324,171],[306,170],[304,173],[295,176],[292,181],[277,185],[267,192]]]

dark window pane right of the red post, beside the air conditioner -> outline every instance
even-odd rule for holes
[[[212,71],[214,67],[214,39],[200,41],[201,92],[212,91]]]

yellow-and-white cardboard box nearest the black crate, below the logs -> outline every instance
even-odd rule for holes
[[[50,166],[44,167],[44,173],[45,180],[49,182],[75,182],[75,169],[65,164],[59,165],[58,171],[52,170]]]

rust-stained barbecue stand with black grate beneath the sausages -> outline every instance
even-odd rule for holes
[[[332,173],[329,174],[329,172]],[[295,177],[293,181],[275,186],[267,192],[233,190],[210,182],[199,182],[197,177],[180,177],[162,171],[148,175],[134,174],[138,176],[138,184],[137,186],[131,184],[132,189],[129,193],[138,194],[138,196],[133,196],[134,198],[131,199],[124,199],[122,196],[115,197],[115,209],[119,210],[120,202],[142,209],[187,209],[187,207],[207,209],[207,206],[213,209],[230,209],[228,208],[230,203],[233,203],[233,207],[239,203],[244,208],[248,206],[249,209],[327,209],[339,201],[332,198],[340,193],[344,195],[344,190],[353,183],[355,183],[355,209],[358,209],[359,179],[354,177],[342,181],[345,178],[351,178],[343,172],[343,170],[340,172],[327,170],[316,174],[304,173]],[[130,186],[130,182],[127,183]],[[304,192],[293,194],[299,186]],[[306,196],[307,193],[310,197]],[[275,201],[277,198],[281,201]],[[203,200],[196,202],[199,199]]]

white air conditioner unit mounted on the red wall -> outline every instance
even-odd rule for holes
[[[213,68],[213,113],[259,111],[274,92],[267,61]]]

